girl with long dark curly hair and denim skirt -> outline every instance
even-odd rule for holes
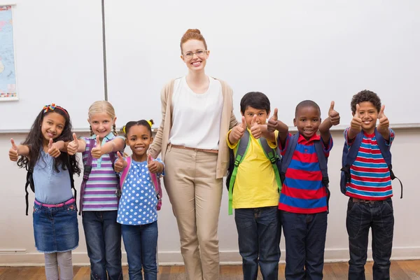
[[[71,251],[78,246],[76,200],[71,193],[73,173],[80,174],[78,160],[64,151],[71,139],[66,109],[44,106],[27,139],[12,148],[9,158],[31,171],[28,183],[35,187],[34,237],[36,249],[45,256],[47,279],[73,279]],[[58,273],[59,267],[59,273]]]

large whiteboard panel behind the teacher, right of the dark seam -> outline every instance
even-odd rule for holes
[[[235,114],[249,91],[267,94],[293,125],[295,106],[330,102],[351,120],[360,90],[379,94],[391,124],[420,123],[420,1],[105,1],[109,101],[118,125],[160,123],[160,90],[186,75],[179,42],[198,28],[206,73],[234,90]]]

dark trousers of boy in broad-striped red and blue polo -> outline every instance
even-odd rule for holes
[[[286,242],[286,279],[322,279],[327,212],[280,211],[280,217]]]

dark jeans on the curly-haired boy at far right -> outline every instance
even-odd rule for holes
[[[372,228],[373,279],[389,279],[393,225],[391,198],[372,203],[355,203],[349,199],[346,218],[350,251],[349,279],[365,279],[369,228]]]

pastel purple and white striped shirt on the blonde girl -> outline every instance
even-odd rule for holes
[[[102,140],[102,145],[116,138],[112,132]],[[123,138],[123,137],[120,137]],[[96,139],[96,135],[90,138],[81,137],[86,142],[86,149],[82,153],[83,165],[87,163],[87,153],[92,151],[89,139]],[[123,138],[124,139],[124,138]],[[96,142],[95,142],[96,143]],[[118,158],[116,152],[115,158]],[[118,179],[116,172],[112,167],[109,154],[102,155],[101,158],[92,158],[92,171],[89,179],[86,181],[85,190],[83,192],[83,211],[113,211],[118,210],[118,197],[116,190],[118,188]]]

